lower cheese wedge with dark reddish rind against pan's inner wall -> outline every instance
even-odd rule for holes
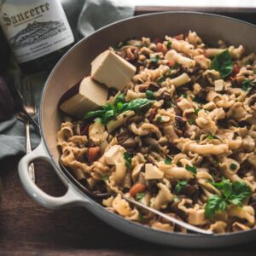
[[[67,90],[59,105],[63,112],[81,119],[85,113],[104,105],[107,97],[108,88],[87,77]]]

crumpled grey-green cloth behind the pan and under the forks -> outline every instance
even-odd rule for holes
[[[68,9],[71,1],[61,1],[63,8]],[[134,6],[129,1],[120,0],[76,0],[77,4],[80,5],[79,9],[81,12],[79,15],[68,17],[70,22],[73,22],[71,27],[76,27],[74,34],[79,34],[79,38],[86,37],[90,33],[95,32],[102,26],[106,26],[114,21],[122,20],[131,17],[134,13]],[[75,15],[75,12],[70,12],[70,15]],[[77,23],[75,26],[74,23]],[[77,37],[78,38],[78,37]],[[14,67],[11,67],[14,68]],[[20,73],[11,71],[15,76],[20,76]],[[38,74],[33,77],[30,76],[28,79],[32,79],[32,85],[36,90],[35,101],[39,106],[39,98],[44,87],[45,78],[39,78]],[[16,80],[19,78],[15,78]],[[14,117],[7,121],[0,122],[0,160],[5,157],[13,156],[17,154],[25,154],[26,152],[26,137],[25,137],[25,125],[20,120]],[[31,125],[31,141],[32,148],[36,148],[40,142],[40,137]]]

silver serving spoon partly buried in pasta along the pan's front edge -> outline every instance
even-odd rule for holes
[[[91,197],[94,197],[94,198],[105,198],[105,197],[108,197],[108,196],[112,195],[111,193],[97,193],[97,192],[90,191],[90,189],[86,188],[82,183],[80,183],[77,179],[75,179],[73,177],[73,175],[67,170],[66,166],[63,165],[61,159],[59,160],[59,163],[60,163],[62,171],[64,171],[67,174],[67,176],[73,181],[73,183],[75,183],[79,187],[79,189],[82,189],[86,195],[90,195]],[[85,179],[84,179],[84,181],[85,181],[84,183],[86,184]],[[203,234],[203,235],[213,235],[212,231],[197,228],[197,227],[195,227],[191,224],[183,222],[182,220],[179,220],[179,219],[174,218],[172,216],[169,216],[169,215],[167,215],[163,212],[155,210],[154,208],[145,206],[142,203],[140,203],[138,201],[135,201],[135,200],[133,200],[133,199],[131,199],[131,198],[125,196],[125,195],[121,195],[121,197],[123,199],[125,199],[125,201],[128,201],[129,203],[131,203],[132,205],[134,205],[136,207],[141,207],[144,210],[147,210],[148,212],[152,212],[155,215],[160,216],[161,218],[165,218],[166,220],[168,220],[168,221],[170,221],[174,224],[177,224],[177,225],[179,225],[179,226],[181,226],[181,227],[183,227],[187,230],[190,230],[190,231],[195,232],[195,233]]]

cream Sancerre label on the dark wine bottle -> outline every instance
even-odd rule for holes
[[[20,63],[47,55],[74,41],[59,0],[2,0],[0,24]]]

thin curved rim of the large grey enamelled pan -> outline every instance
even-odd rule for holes
[[[76,189],[81,195],[83,195],[88,201],[90,201],[90,203],[93,205],[93,207],[97,207],[99,209],[101,209],[102,211],[104,211],[106,214],[108,215],[112,215],[112,217],[114,218],[117,218],[121,221],[125,221],[125,223],[127,224],[131,224],[131,228],[134,226],[136,227],[137,229],[140,229],[140,230],[149,230],[150,232],[152,233],[155,233],[155,236],[157,236],[157,234],[163,234],[165,233],[167,236],[180,236],[180,237],[183,237],[183,238],[191,238],[191,239],[198,239],[198,238],[208,238],[208,239],[220,239],[222,237],[227,237],[227,236],[244,236],[248,233],[252,233],[252,232],[255,232],[256,230],[255,229],[250,229],[250,230],[241,230],[241,231],[236,231],[236,232],[230,232],[230,233],[224,233],[224,234],[213,234],[212,236],[204,236],[204,235],[201,235],[201,234],[193,234],[193,233],[181,233],[181,232],[170,232],[170,231],[166,231],[166,230],[156,230],[156,229],[153,229],[151,227],[149,227],[148,225],[146,224],[140,224],[140,223],[137,223],[137,222],[134,222],[134,221],[131,221],[129,219],[126,219],[126,218],[123,218],[121,217],[119,214],[116,214],[116,213],[113,213],[113,212],[109,212],[106,207],[102,207],[101,204],[97,203],[96,201],[94,201],[93,199],[90,198],[90,196],[84,194],[83,191],[81,191],[68,177],[67,175],[61,170],[61,168],[55,163],[55,160],[53,159],[52,157],[52,154],[50,154],[50,151],[49,151],[49,148],[47,146],[47,143],[46,143],[46,140],[45,140],[45,136],[44,136],[44,129],[43,129],[43,125],[42,125],[42,106],[44,105],[44,96],[45,96],[45,92],[48,88],[48,85],[49,85],[49,81],[50,79],[53,77],[54,73],[55,73],[55,69],[57,67],[59,67],[61,65],[61,62],[66,59],[67,55],[70,55],[73,51],[73,49],[75,49],[76,47],[79,46],[79,44],[82,44],[84,42],[84,40],[87,40],[87,38],[92,38],[94,37],[94,35],[97,33],[97,32],[101,32],[102,30],[105,30],[107,29],[108,27],[110,26],[114,26],[116,24],[119,24],[119,23],[123,23],[123,22],[126,22],[126,21],[129,21],[129,20],[139,20],[139,19],[143,19],[143,17],[148,17],[148,16],[158,16],[158,15],[175,15],[175,14],[184,14],[184,15],[203,15],[203,16],[210,16],[212,18],[216,18],[216,19],[224,19],[224,20],[233,20],[235,22],[238,22],[238,23],[243,23],[247,26],[252,26],[252,27],[256,27],[256,25],[252,24],[252,23],[249,23],[247,21],[244,21],[244,20],[239,20],[239,19],[236,19],[236,18],[231,18],[231,17],[228,17],[228,16],[224,16],[224,15],[215,15],[215,14],[208,14],[208,13],[204,13],[204,12],[191,12],[191,11],[165,11],[165,12],[156,12],[156,13],[151,13],[151,14],[145,14],[145,15],[137,15],[137,16],[132,16],[130,18],[125,18],[123,20],[118,20],[118,21],[115,21],[111,24],[108,24],[107,26],[102,26],[102,28],[96,30],[95,32],[91,33],[88,37],[86,38],[81,38],[79,40],[78,43],[74,44],[73,47],[71,49],[68,49],[67,53],[65,53],[65,55],[63,55],[61,57],[61,59],[55,64],[55,67],[52,69],[52,71],[49,73],[49,76],[47,78],[47,80],[45,81],[44,83],[44,88],[43,88],[43,91],[42,91],[42,97],[41,97],[41,101],[40,101],[40,106],[39,106],[39,116],[38,116],[38,120],[39,120],[39,127],[40,127],[40,131],[41,131],[41,137],[43,139],[43,142],[44,142],[44,147],[47,151],[47,153],[49,154],[49,157],[55,167],[55,172],[59,172],[61,174],[62,177],[64,177],[68,183],[72,183],[73,185],[73,188]]]

